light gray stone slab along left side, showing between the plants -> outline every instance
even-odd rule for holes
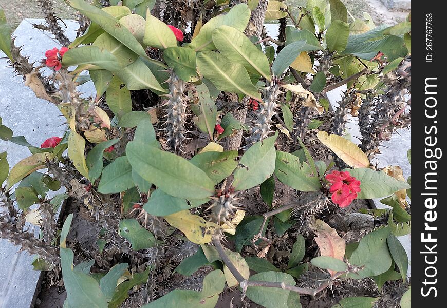
[[[52,40],[47,32],[32,29],[32,22],[43,20],[24,20],[14,31],[17,46],[23,45],[23,55],[30,61],[40,61],[45,51],[60,48],[59,42]],[[74,38],[78,25],[65,21],[67,35]],[[0,117],[3,124],[14,132],[14,136],[25,136],[29,143],[40,146],[52,136],[62,137],[66,125],[58,108],[43,99],[35,97],[33,91],[22,83],[21,76],[14,76],[13,69],[7,67],[0,51]],[[85,84],[81,91],[88,95],[92,85]],[[31,155],[26,147],[0,140],[0,152],[8,152],[10,166]],[[18,252],[18,247],[6,240],[0,240],[0,308],[29,308],[32,304],[40,272],[33,271],[33,257],[26,252]]]

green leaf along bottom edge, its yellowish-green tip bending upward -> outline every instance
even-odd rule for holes
[[[203,279],[201,292],[177,289],[142,308],[214,308],[224,287],[224,273],[213,271]]]

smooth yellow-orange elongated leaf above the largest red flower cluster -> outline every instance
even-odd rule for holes
[[[336,134],[329,135],[320,130],[316,137],[325,146],[330,148],[337,156],[352,168],[369,168],[369,160],[365,153],[351,141]]]

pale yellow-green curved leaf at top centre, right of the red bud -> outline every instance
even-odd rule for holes
[[[227,25],[239,30],[240,32],[244,32],[249,19],[249,7],[245,3],[240,3],[232,7],[227,14],[218,15],[214,18],[211,18],[208,23],[203,25],[203,27],[200,29],[199,34],[194,37],[188,47],[194,49],[195,51],[214,50],[216,49],[213,44],[212,37],[214,29],[222,25]]]

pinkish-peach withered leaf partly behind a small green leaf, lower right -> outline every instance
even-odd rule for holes
[[[337,230],[331,228],[327,223],[320,219],[316,219],[313,224],[316,237],[315,242],[320,248],[322,256],[332,257],[343,261],[346,250],[345,240],[338,234]],[[336,271],[328,269],[329,273],[333,275]]]

